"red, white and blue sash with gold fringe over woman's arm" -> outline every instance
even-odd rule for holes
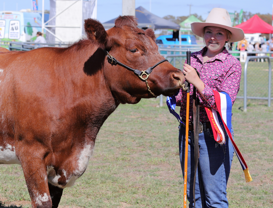
[[[247,163],[245,162],[241,152],[236,146],[232,135],[231,135],[231,116],[232,116],[232,102],[229,95],[225,92],[218,92],[213,90],[215,103],[218,111],[205,107],[208,118],[210,120],[210,124],[213,130],[213,136],[216,142],[219,144],[225,144],[226,134],[228,135],[230,141],[232,142],[232,146],[234,151],[241,163],[242,169],[245,173],[245,180],[247,182],[252,181],[250,173],[248,171]]]

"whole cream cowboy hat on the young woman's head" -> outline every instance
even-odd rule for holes
[[[244,31],[241,28],[231,26],[229,13],[222,8],[213,8],[209,16],[207,16],[206,22],[193,22],[191,30],[195,35],[202,37],[203,29],[206,26],[221,27],[229,30],[231,32],[230,42],[238,42],[245,37]]]

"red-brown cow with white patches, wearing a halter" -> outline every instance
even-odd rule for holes
[[[67,48],[0,52],[0,163],[22,166],[33,208],[58,207],[119,104],[174,95],[185,81],[135,17],[84,28]]]

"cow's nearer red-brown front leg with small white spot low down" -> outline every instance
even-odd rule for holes
[[[32,208],[51,208],[45,162],[50,155],[49,148],[36,138],[18,136],[15,150],[23,168]]]

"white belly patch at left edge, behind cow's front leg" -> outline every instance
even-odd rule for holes
[[[0,164],[1,163],[21,165],[15,154],[15,148],[12,147],[10,144],[5,147],[0,146]]]

